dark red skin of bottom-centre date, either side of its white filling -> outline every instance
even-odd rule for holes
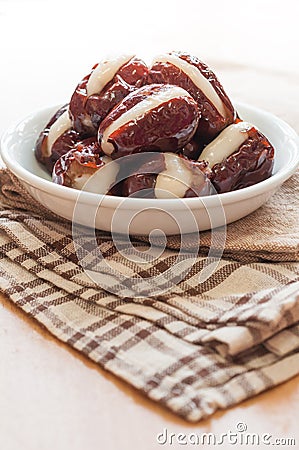
[[[192,174],[191,186],[186,186],[183,197],[199,197],[211,195],[214,189],[209,181],[209,169],[207,163],[189,161],[178,155],[170,155],[173,158],[181,158],[182,164]],[[122,195],[125,197],[155,198],[155,187],[159,174],[167,175],[165,153],[156,153],[151,160],[143,163],[133,175],[123,182]]]

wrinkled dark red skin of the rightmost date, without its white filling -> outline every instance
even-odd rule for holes
[[[219,194],[259,183],[272,174],[274,148],[265,136],[252,128],[239,149],[212,167],[211,181]]]

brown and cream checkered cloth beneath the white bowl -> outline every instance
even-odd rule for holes
[[[224,256],[208,280],[197,277],[209,249],[205,232],[188,275],[150,298],[136,297],[132,286],[118,294],[100,288],[78,263],[70,223],[37,204],[7,171],[0,178],[2,291],[149,398],[198,421],[299,372],[298,175],[229,225]],[[88,255],[88,238],[80,242]],[[128,264],[108,233],[98,232],[97,242],[111,266],[146,284],[149,276],[164,279],[180,239],[169,238],[147,264]],[[133,244],[149,247],[146,238]]]

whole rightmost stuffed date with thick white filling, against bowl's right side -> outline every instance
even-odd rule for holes
[[[254,125],[238,121],[207,145],[199,160],[208,163],[213,185],[218,193],[224,193],[269,178],[273,170],[274,148]]]

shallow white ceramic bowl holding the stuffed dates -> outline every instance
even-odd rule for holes
[[[38,111],[10,128],[1,140],[7,167],[27,191],[51,211],[98,229],[117,233],[166,235],[198,232],[238,220],[259,208],[299,165],[299,141],[295,131],[268,112],[236,104],[241,117],[255,124],[275,148],[273,175],[254,186],[225,194],[188,199],[138,199],[76,191],[51,182],[34,156],[39,132],[57,106]]]

